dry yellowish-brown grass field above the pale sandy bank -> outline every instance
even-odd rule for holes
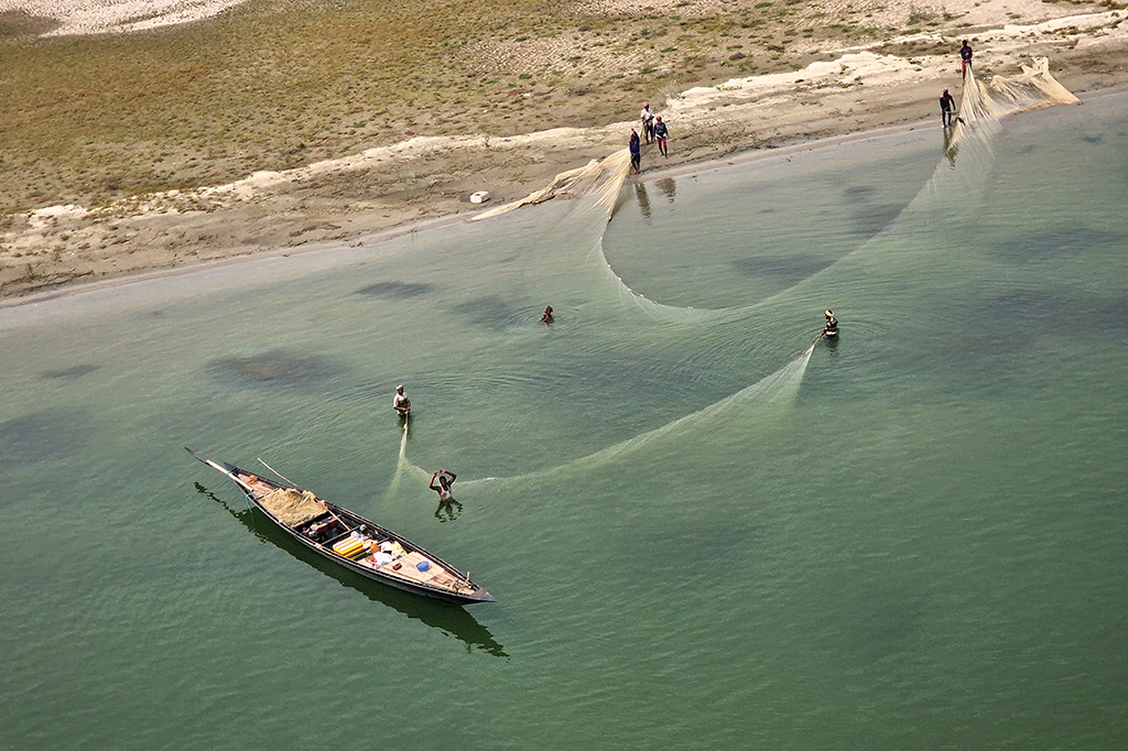
[[[54,21],[6,14],[0,206],[102,205],[413,135],[611,122],[687,83],[801,67],[891,29],[872,19],[895,7],[257,0],[187,26],[46,39],[33,34]]]

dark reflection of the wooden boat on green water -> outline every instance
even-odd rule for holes
[[[467,652],[477,648],[495,657],[509,657],[505,648],[497,643],[485,626],[474,619],[474,616],[464,610],[460,606],[438,602],[421,598],[408,592],[400,592],[390,586],[364,578],[358,574],[335,566],[333,562],[326,560],[321,556],[314,555],[306,548],[296,544],[289,536],[282,532],[276,525],[262,520],[252,509],[235,510],[209,491],[200,483],[195,483],[196,492],[205,495],[235,516],[239,522],[255,533],[263,542],[271,542],[282,548],[298,560],[308,564],[321,572],[329,578],[334,578],[342,586],[356,590],[369,600],[386,604],[394,610],[398,610],[412,620],[420,620],[432,628],[453,636],[466,644]]]

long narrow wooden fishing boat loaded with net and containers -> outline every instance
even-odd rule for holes
[[[437,555],[347,509],[293,484],[276,483],[235,465],[197,460],[227,475],[267,519],[329,560],[396,589],[435,600],[496,602],[484,589]]]

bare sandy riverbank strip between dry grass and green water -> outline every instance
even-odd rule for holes
[[[1049,56],[1054,74],[1078,94],[1128,82],[1126,11],[1063,16],[1042,3],[966,5],[966,18],[981,27],[874,41],[799,70],[664,97],[659,112],[670,125],[670,157],[646,150],[642,179],[659,166],[748,149],[906,123],[938,129],[936,97],[943,88],[959,94],[954,51],[963,35],[973,41],[980,76]],[[1034,21],[1004,23],[1020,14]],[[481,211],[468,201],[475,191],[490,191],[494,203],[515,200],[559,171],[623,148],[637,98],[619,96],[624,120],[600,126],[413,138],[226,185],[139,195],[94,210],[54,205],[12,214],[0,233],[0,297],[311,241],[356,244],[420,219]]]

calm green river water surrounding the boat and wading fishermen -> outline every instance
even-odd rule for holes
[[[0,310],[2,745],[1123,748],[1126,111]],[[337,572],[184,445],[500,602]]]

